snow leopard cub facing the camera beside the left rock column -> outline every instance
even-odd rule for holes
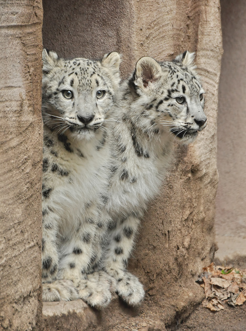
[[[43,300],[81,298],[102,307],[115,282],[100,271],[109,217],[110,118],[120,56],[65,61],[43,50]]]

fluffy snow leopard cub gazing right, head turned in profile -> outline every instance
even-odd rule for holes
[[[159,192],[170,164],[174,140],[194,141],[206,126],[204,90],[185,52],[172,62],[140,59],[122,84],[111,148],[114,166],[106,209],[113,221],[104,270],[117,280],[116,290],[129,305],[144,298],[137,277],[126,270],[146,204]]]

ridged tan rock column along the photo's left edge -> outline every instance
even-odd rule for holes
[[[1,1],[0,330],[41,318],[41,0]]]

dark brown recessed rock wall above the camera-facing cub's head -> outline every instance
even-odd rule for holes
[[[65,58],[95,59],[112,51],[122,52],[121,71],[125,75],[132,71],[135,19],[130,1],[44,0],[43,7],[45,48]]]

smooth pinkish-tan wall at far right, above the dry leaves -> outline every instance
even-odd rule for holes
[[[233,254],[237,260],[241,256],[246,261],[245,1],[222,0],[221,18],[224,54],[218,109],[220,180],[216,197],[215,228],[219,247],[216,258],[224,261]]]

